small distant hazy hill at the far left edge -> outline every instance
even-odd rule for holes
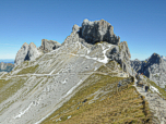
[[[0,63],[0,72],[11,72],[13,67],[14,64],[12,63],[4,63],[4,62]]]

